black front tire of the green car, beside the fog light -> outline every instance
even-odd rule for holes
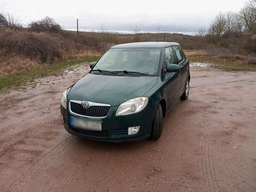
[[[154,120],[152,125],[152,131],[150,134],[151,140],[158,140],[161,137],[163,130],[163,109],[159,104],[154,114]]]

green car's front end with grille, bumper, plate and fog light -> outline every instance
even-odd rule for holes
[[[70,134],[92,140],[111,142],[143,140],[150,136],[154,115],[153,103],[148,103],[148,100],[148,97],[140,97],[137,98],[136,103],[127,103],[126,106],[125,103],[111,106],[90,101],[67,100],[66,106],[61,104],[63,125]],[[65,99],[63,101],[65,102]],[[84,108],[84,103],[88,103],[89,106]],[[138,109],[140,107],[143,107],[141,111]]]

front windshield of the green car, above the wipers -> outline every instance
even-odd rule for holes
[[[93,70],[128,71],[156,74],[161,49],[109,49],[100,58]]]

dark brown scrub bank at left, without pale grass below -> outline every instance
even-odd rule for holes
[[[10,57],[29,58],[41,63],[52,63],[67,58],[98,56],[108,49],[109,43],[100,38],[87,38],[63,31],[35,33],[27,29],[0,28],[1,61]]]

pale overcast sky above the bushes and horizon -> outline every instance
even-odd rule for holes
[[[0,12],[22,24],[52,17],[65,29],[196,31],[219,12],[239,12],[246,0],[54,1],[0,0]]]

